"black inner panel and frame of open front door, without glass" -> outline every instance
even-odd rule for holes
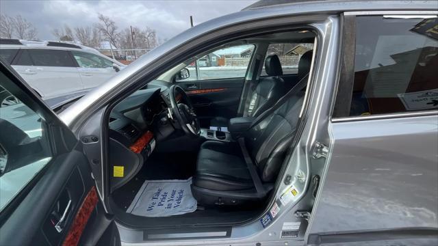
[[[0,245],[77,245],[80,240],[120,244],[114,221],[99,200],[81,143],[31,92],[29,85],[16,77],[12,68],[0,62],[0,70],[5,74],[2,87],[43,115],[41,119],[47,127],[42,129],[47,134],[41,139],[48,139],[52,154],[47,165],[1,211]],[[6,77],[11,80],[6,81]],[[111,233],[103,233],[107,229]],[[87,237],[82,238],[82,234]]]

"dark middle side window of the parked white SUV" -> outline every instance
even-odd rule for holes
[[[55,51],[49,49],[29,50],[35,66],[75,67],[68,51]]]

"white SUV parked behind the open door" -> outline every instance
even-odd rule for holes
[[[80,44],[0,39],[0,57],[34,88],[43,100],[86,92],[125,67]],[[1,105],[16,99],[0,92]]]

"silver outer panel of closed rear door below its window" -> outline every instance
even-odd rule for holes
[[[309,234],[438,229],[437,122],[432,115],[331,123],[333,152]]]

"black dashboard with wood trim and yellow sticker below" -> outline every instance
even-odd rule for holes
[[[149,84],[112,109],[108,121],[112,191],[140,171],[157,141],[175,131],[168,118],[169,105],[168,87]]]

